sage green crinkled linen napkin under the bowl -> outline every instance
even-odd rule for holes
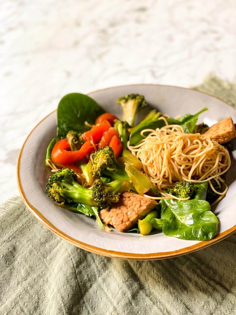
[[[235,105],[236,85],[195,87]],[[192,254],[125,261],[64,241],[20,197],[0,206],[0,314],[236,314],[236,235]]]

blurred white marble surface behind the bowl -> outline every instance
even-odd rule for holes
[[[0,2],[0,202],[27,134],[69,92],[236,78],[235,0]]]

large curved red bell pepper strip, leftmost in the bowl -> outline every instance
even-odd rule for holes
[[[67,151],[69,143],[66,139],[58,141],[53,147],[51,158],[54,163],[72,164],[81,160],[88,152],[93,150],[93,146],[89,141],[85,142],[79,150]]]

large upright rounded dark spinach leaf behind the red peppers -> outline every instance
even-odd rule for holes
[[[67,94],[60,100],[57,108],[57,135],[64,137],[69,130],[84,132],[90,129],[84,122],[93,124],[104,112],[104,109],[87,95]]]

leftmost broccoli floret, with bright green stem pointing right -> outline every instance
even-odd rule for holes
[[[72,169],[60,169],[48,179],[45,192],[53,200],[64,203],[83,203],[96,206],[91,189],[76,182],[76,175]]]

